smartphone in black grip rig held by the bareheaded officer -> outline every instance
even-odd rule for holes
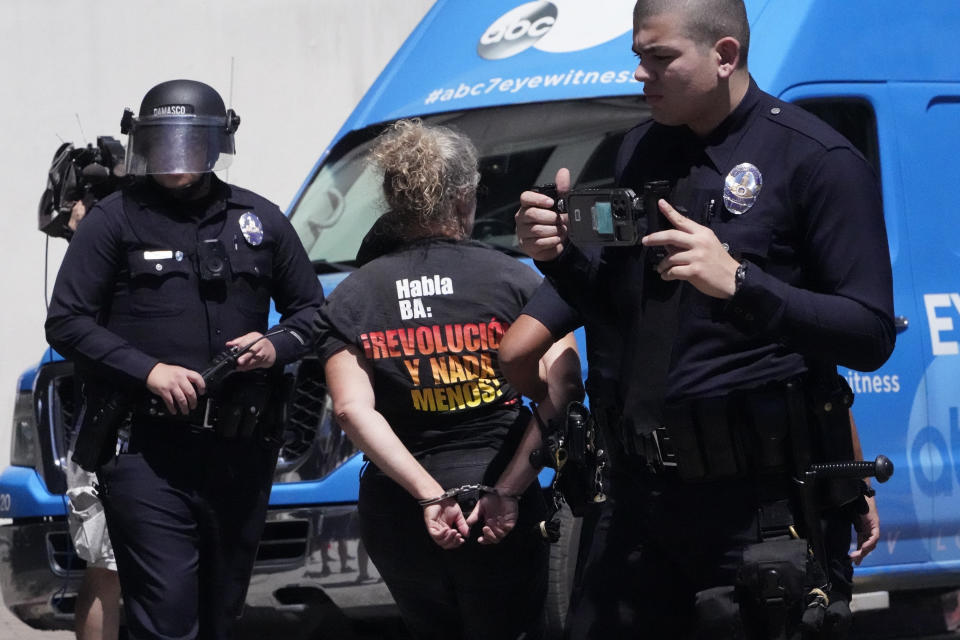
[[[550,196],[554,210],[566,213],[570,240],[579,246],[633,246],[654,231],[671,225],[657,206],[660,198],[670,194],[666,180],[647,182],[641,195],[633,189],[572,189],[558,197],[555,184],[533,187],[533,191]]]

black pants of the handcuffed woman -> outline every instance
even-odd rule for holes
[[[434,454],[421,462],[445,488],[494,484],[492,449]],[[474,500],[461,503],[464,516]],[[547,542],[536,530],[544,513],[534,482],[520,501],[516,528],[499,544],[480,545],[479,529],[443,550],[427,534],[423,508],[372,464],[360,481],[360,532],[370,559],[416,638],[513,640],[541,633]]]

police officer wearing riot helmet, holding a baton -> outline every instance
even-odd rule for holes
[[[323,300],[283,213],[213,174],[239,122],[193,80],[124,112],[136,179],[78,227],[47,316],[82,381],[74,459],[98,474],[131,637],[232,637],[277,460],[283,365],[305,352]]]

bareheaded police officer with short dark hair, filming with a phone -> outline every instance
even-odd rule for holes
[[[843,509],[859,488],[827,485],[813,504],[791,478],[854,455],[836,366],[873,370],[893,348],[876,176],[755,84],[742,0],[639,0],[633,27],[652,119],[627,134],[616,179],[637,193],[669,181],[668,227],[591,261],[550,197],[524,193],[517,214],[521,246],[587,331],[605,323],[623,345],[626,452],[570,635],[839,635],[856,517]],[[805,570],[797,533],[829,593],[810,588],[826,577]],[[826,615],[801,623],[808,605]]]

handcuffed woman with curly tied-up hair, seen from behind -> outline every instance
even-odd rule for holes
[[[329,297],[315,336],[337,421],[369,460],[363,544],[415,637],[538,637],[548,549],[529,453],[541,435],[498,348],[540,276],[469,239],[479,173],[466,136],[400,121],[372,154],[390,207],[368,243],[379,249]],[[572,336],[540,366],[546,420],[579,397]]]

